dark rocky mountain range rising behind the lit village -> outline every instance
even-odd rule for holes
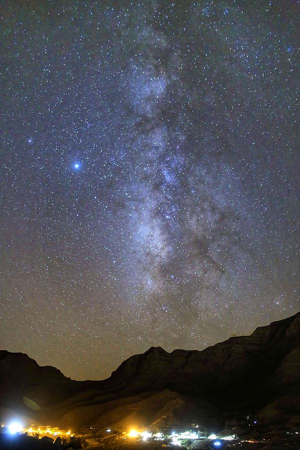
[[[43,423],[111,427],[245,414],[296,422],[299,404],[300,313],[201,352],[150,348],[99,382],[75,382],[0,351],[0,407]]]

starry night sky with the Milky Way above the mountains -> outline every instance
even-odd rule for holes
[[[299,12],[0,2],[0,348],[102,379],[300,309]]]

